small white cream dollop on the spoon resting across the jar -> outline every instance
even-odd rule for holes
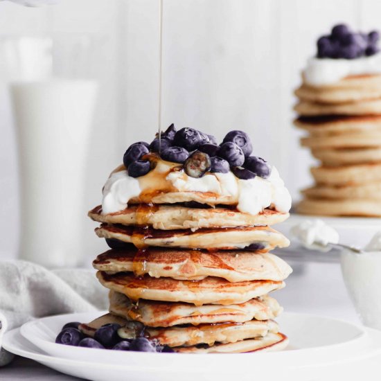
[[[305,220],[292,227],[291,233],[306,249],[329,251],[328,244],[339,243],[339,233],[319,219]]]

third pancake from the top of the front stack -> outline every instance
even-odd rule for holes
[[[102,224],[95,231],[100,238],[114,238],[141,248],[158,246],[188,249],[245,249],[249,245],[260,244],[268,251],[274,247],[290,245],[290,241],[283,234],[269,227],[164,231]]]

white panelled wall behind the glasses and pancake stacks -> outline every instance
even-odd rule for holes
[[[291,124],[300,70],[317,37],[333,24],[381,29],[380,11],[377,0],[164,0],[163,125],[196,127],[219,139],[232,129],[249,132],[254,154],[278,167],[296,198],[308,185],[312,163]],[[158,12],[158,0],[61,0],[44,8],[0,2],[0,36],[85,32],[99,41],[94,67],[101,91],[84,179],[87,197],[78,211],[84,237],[79,250],[94,254],[104,247],[86,212],[100,202],[103,183],[127,146],[152,140],[157,130]],[[6,78],[0,79],[4,257],[17,251],[20,214],[15,131]]]

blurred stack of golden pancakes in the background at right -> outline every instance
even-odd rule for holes
[[[316,215],[381,215],[381,75],[349,76],[296,89],[301,145],[321,165],[298,211]]]

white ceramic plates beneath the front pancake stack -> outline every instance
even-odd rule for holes
[[[69,314],[38,319],[22,328],[23,335],[35,346],[20,337],[19,330],[6,333],[3,346],[17,355],[89,380],[121,379],[121,375],[123,379],[134,381],[231,381],[232,377],[239,377],[240,381],[254,378],[266,381],[330,380],[327,378],[329,372],[342,372],[343,375],[364,363],[367,369],[373,362],[378,366],[381,360],[380,332],[365,330],[346,321],[295,313],[285,313],[278,319],[291,344],[287,351],[273,353],[116,352],[54,343],[55,335],[64,323],[89,321],[97,315]]]

